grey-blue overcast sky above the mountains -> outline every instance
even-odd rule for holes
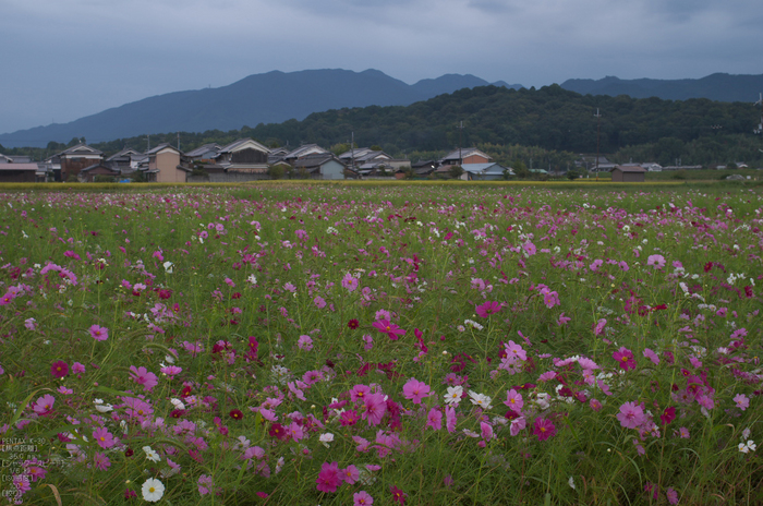
[[[0,0],[0,133],[272,70],[763,73],[761,0]]]

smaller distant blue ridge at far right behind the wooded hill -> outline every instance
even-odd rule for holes
[[[664,100],[707,98],[717,101],[755,101],[763,92],[763,74],[731,75],[716,73],[702,79],[683,80],[621,80],[607,76],[601,80],[567,80],[561,87],[581,95],[628,95],[632,98],[657,97]]]

